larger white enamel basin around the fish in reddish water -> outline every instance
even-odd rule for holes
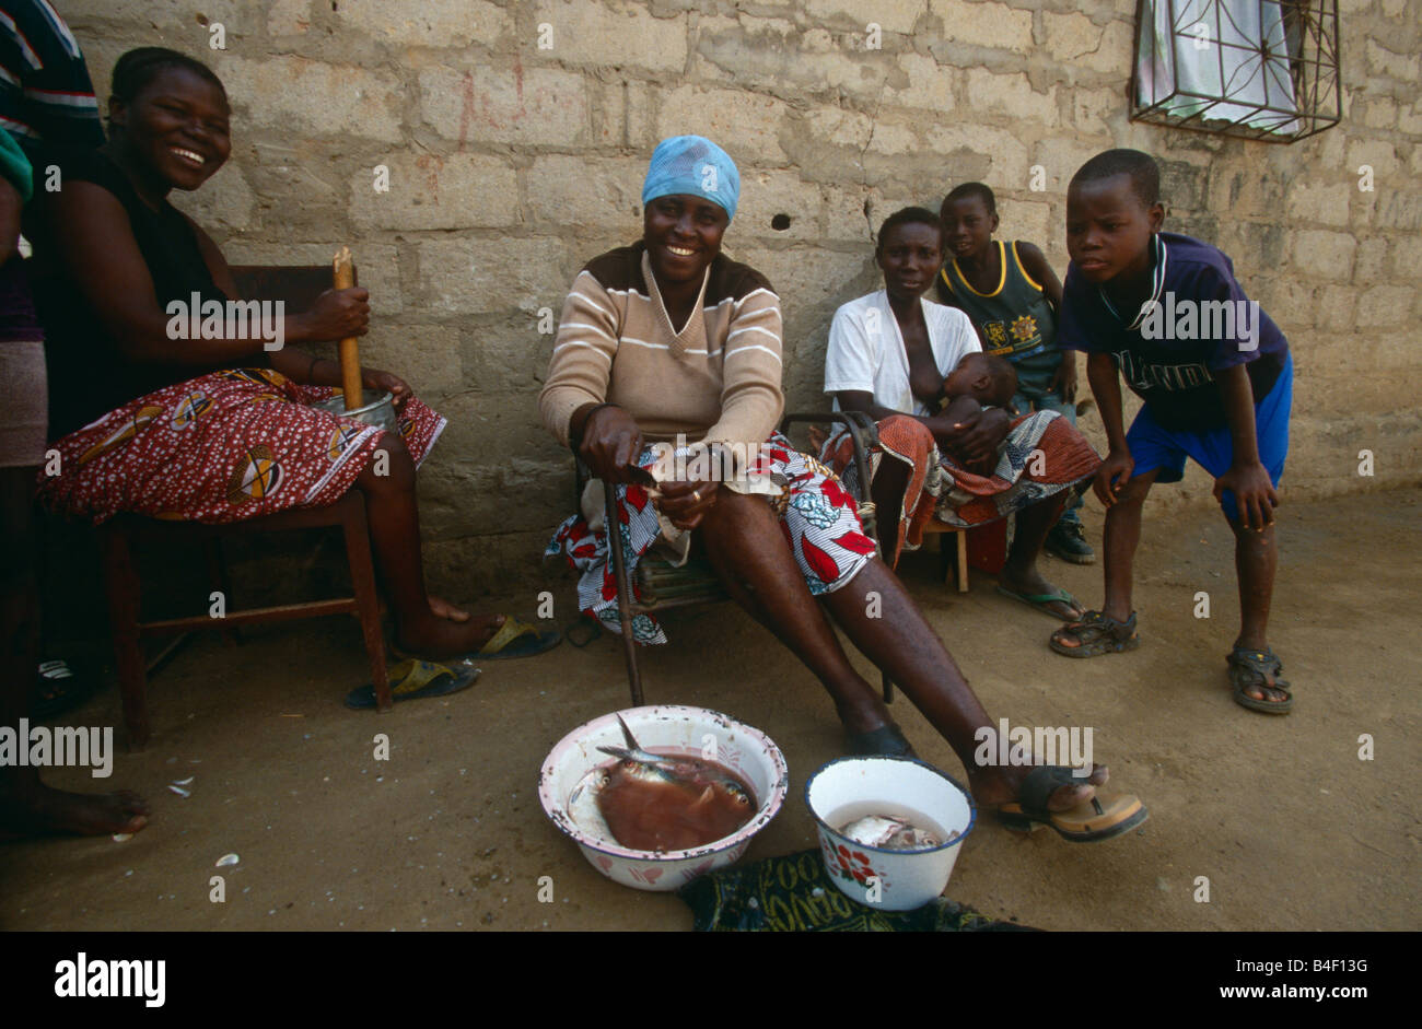
[[[599,746],[626,746],[617,713],[627,722],[637,742],[651,750],[675,748],[710,756],[705,748],[708,742],[714,742],[712,760],[749,783],[758,802],[755,816],[725,839],[693,850],[661,854],[621,847],[613,839],[580,824],[569,812],[570,794],[589,772],[613,760]],[[617,713],[577,726],[557,742],[543,762],[538,794],[553,824],[577,843],[583,857],[594,868],[636,890],[680,890],[698,876],[737,861],[751,837],[769,824],[785,802],[789,772],[779,748],[759,729],[707,708],[664,704]],[[584,807],[579,806],[579,810]]]

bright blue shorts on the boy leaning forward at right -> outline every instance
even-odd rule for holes
[[[1284,361],[1284,370],[1274,381],[1268,395],[1254,405],[1254,432],[1258,436],[1258,459],[1268,472],[1268,480],[1277,487],[1284,475],[1284,458],[1288,456],[1288,409],[1294,401],[1294,357]],[[1156,482],[1180,482],[1185,478],[1185,459],[1194,462],[1219,479],[1234,463],[1234,439],[1230,426],[1190,432],[1189,429],[1166,429],[1150,414],[1150,405],[1140,408],[1136,421],[1126,432],[1126,446],[1136,466],[1132,476],[1159,469]],[[1220,497],[1224,517],[1237,522],[1234,493],[1224,490]]]

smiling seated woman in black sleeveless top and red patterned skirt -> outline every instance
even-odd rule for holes
[[[229,310],[239,297],[222,252],[168,202],[173,189],[206,183],[232,152],[218,77],[172,50],[132,50],[114,67],[109,126],[107,145],[64,166],[53,230],[36,240],[48,269],[36,293],[61,465],[41,476],[41,499],[95,523],[121,512],[220,523],[320,507],[357,489],[401,647],[452,658],[538,635],[501,631],[498,615],[471,618],[425,590],[415,469],[445,419],[374,368],[361,382],[392,394],[394,432],[317,409],[338,365],[267,345],[364,334],[365,290],[328,290],[280,325],[213,317],[192,333],[173,316],[173,304]],[[520,655],[557,641],[546,635]],[[397,699],[435,692],[449,692],[448,682],[395,686]]]

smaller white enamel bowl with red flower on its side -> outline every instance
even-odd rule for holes
[[[832,760],[805,783],[805,803],[815,816],[830,880],[850,900],[884,911],[912,911],[947,888],[958,850],[977,817],[967,790],[913,758]],[[865,814],[910,812],[926,814],[957,837],[939,847],[893,850],[856,843],[839,831],[846,821]]]

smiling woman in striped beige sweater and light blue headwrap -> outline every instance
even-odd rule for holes
[[[643,239],[592,260],[563,304],[539,408],[562,443],[619,485],[619,510],[609,517],[627,526],[629,560],[665,529],[695,529],[731,596],[829,691],[853,752],[913,753],[830,620],[943,733],[978,802],[1071,839],[1103,839],[1139,823],[1145,809],[1135,797],[1094,804],[1103,767],[1072,779],[1059,767],[974,760],[978,731],[997,732],[983,705],[875,556],[849,495],[775,432],[784,404],[779,298],[764,276],[720,253],[738,193],[738,172],[720,146],[700,136],[663,141],[643,188]],[[687,441],[731,455],[710,462],[729,475],[708,475],[695,460],[683,475],[648,473],[668,463],[658,458],[673,448],[685,453]],[[606,534],[577,514],[549,551],[583,573],[580,607],[623,631]],[[646,615],[630,631],[641,642],[665,640]],[[1086,813],[1061,814],[1071,809]]]

